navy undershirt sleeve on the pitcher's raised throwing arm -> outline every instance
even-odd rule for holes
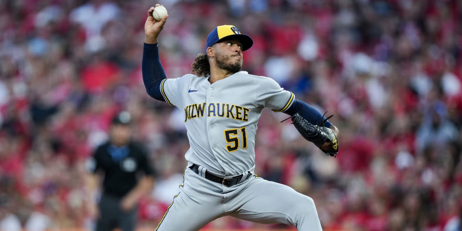
[[[162,67],[162,63],[160,63],[158,43],[144,44],[141,72],[147,94],[165,102],[164,96],[160,91],[160,84],[163,79],[167,78],[167,75],[165,74],[164,67]]]

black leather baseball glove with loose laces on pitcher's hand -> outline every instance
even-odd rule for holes
[[[329,116],[328,118],[330,117],[332,116]],[[311,124],[298,113],[295,113],[289,118],[292,119],[292,124],[295,126],[295,128],[297,128],[298,132],[303,136],[303,138],[315,144],[319,149],[321,149],[322,152],[326,153],[326,155],[336,157],[337,153],[339,152],[339,143],[337,141],[337,136],[335,135],[334,130],[324,127],[324,122],[328,120],[328,118],[321,120],[320,125]],[[324,116],[322,116],[322,118],[324,118]],[[326,142],[329,142],[330,145],[327,149],[322,149],[321,146]]]

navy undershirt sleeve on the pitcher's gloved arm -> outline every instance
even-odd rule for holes
[[[325,116],[322,116],[322,114],[318,110],[308,105],[308,103],[296,99],[294,100],[292,105],[284,111],[284,113],[293,116],[297,112],[305,120],[314,125],[320,125],[321,121],[326,119]],[[332,126],[332,123],[327,120],[326,122],[324,122],[324,126],[329,128],[330,126]]]

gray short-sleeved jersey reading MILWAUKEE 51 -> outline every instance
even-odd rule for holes
[[[245,71],[213,84],[193,74],[164,79],[161,91],[184,113],[190,143],[186,160],[230,176],[255,168],[261,110],[284,111],[294,99],[273,79]]]

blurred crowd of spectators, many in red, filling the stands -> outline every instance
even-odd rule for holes
[[[255,148],[255,173],[312,197],[325,230],[461,230],[460,0],[0,0],[0,225],[90,227],[85,159],[126,109],[159,173],[140,205],[140,227],[156,227],[189,148],[184,115],[142,83],[156,3],[169,12],[169,78],[233,24],[254,39],[243,70],[334,114],[337,158],[270,110]],[[227,217],[207,227],[289,228]]]

